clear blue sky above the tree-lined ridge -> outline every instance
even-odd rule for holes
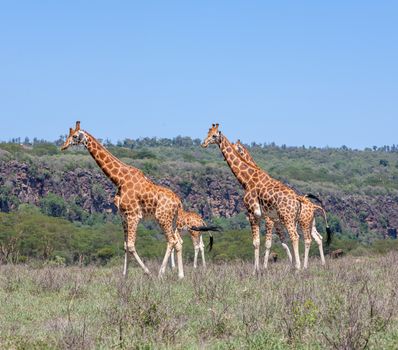
[[[2,1],[1,140],[398,143],[395,1]]]

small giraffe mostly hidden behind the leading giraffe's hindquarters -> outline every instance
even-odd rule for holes
[[[196,227],[203,227],[202,231],[195,230]],[[203,267],[206,268],[206,260],[205,260],[205,253],[204,253],[204,243],[202,238],[202,232],[206,230],[209,231],[210,242],[209,242],[209,251],[211,251],[213,247],[213,235],[211,231],[220,231],[218,226],[207,226],[205,221],[202,217],[193,212],[193,211],[182,211],[178,215],[177,220],[177,229],[180,231],[188,231],[189,235],[191,236],[193,247],[194,247],[194,260],[193,260],[193,267],[197,268],[198,266],[198,255],[199,252],[201,253],[202,257],[202,264]],[[174,249],[171,252],[171,267],[174,268]]]

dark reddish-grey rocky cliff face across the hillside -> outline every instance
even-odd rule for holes
[[[242,190],[228,171],[217,173],[185,173],[185,177],[161,174],[154,179],[160,185],[175,191],[188,209],[200,212],[205,218],[232,217],[245,212]],[[116,212],[113,205],[115,187],[96,168],[76,168],[54,171],[45,165],[27,162],[0,162],[0,209],[16,209],[17,203],[39,205],[40,199],[54,193],[66,202],[76,203],[89,213]],[[12,198],[18,201],[13,202]],[[364,230],[387,235],[388,228],[398,228],[398,196],[360,194],[321,194],[325,208],[339,218],[345,230],[359,234]]]

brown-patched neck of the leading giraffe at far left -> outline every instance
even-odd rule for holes
[[[120,186],[123,181],[123,177],[120,176],[120,170],[123,168],[129,168],[129,171],[131,171],[134,168],[116,158],[104,146],[102,146],[94,136],[90,135],[86,131],[84,131],[84,134],[86,137],[84,145],[94,158],[95,162],[116,186]]]

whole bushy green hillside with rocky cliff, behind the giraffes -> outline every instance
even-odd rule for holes
[[[123,253],[120,218],[111,204],[113,185],[86,150],[62,153],[61,142],[0,144],[3,261],[103,263]],[[210,259],[252,258],[251,234],[240,204],[242,191],[218,147],[202,149],[200,140],[188,137],[104,143],[124,162],[176,191],[187,208],[224,228],[216,235]],[[321,195],[335,232],[331,249],[344,247],[362,254],[364,249],[384,252],[397,247],[385,239],[388,228],[398,228],[393,215],[398,206],[396,146],[351,150],[253,144],[249,151],[271,176],[300,193]],[[75,193],[76,176],[86,182]],[[344,198],[348,199],[339,202]],[[323,221],[317,224],[324,232]],[[160,258],[165,249],[160,230],[152,223],[140,226],[137,244],[145,258]],[[279,245],[275,247],[283,256]],[[315,246],[312,253],[316,254]],[[188,237],[184,255],[193,256]]]

